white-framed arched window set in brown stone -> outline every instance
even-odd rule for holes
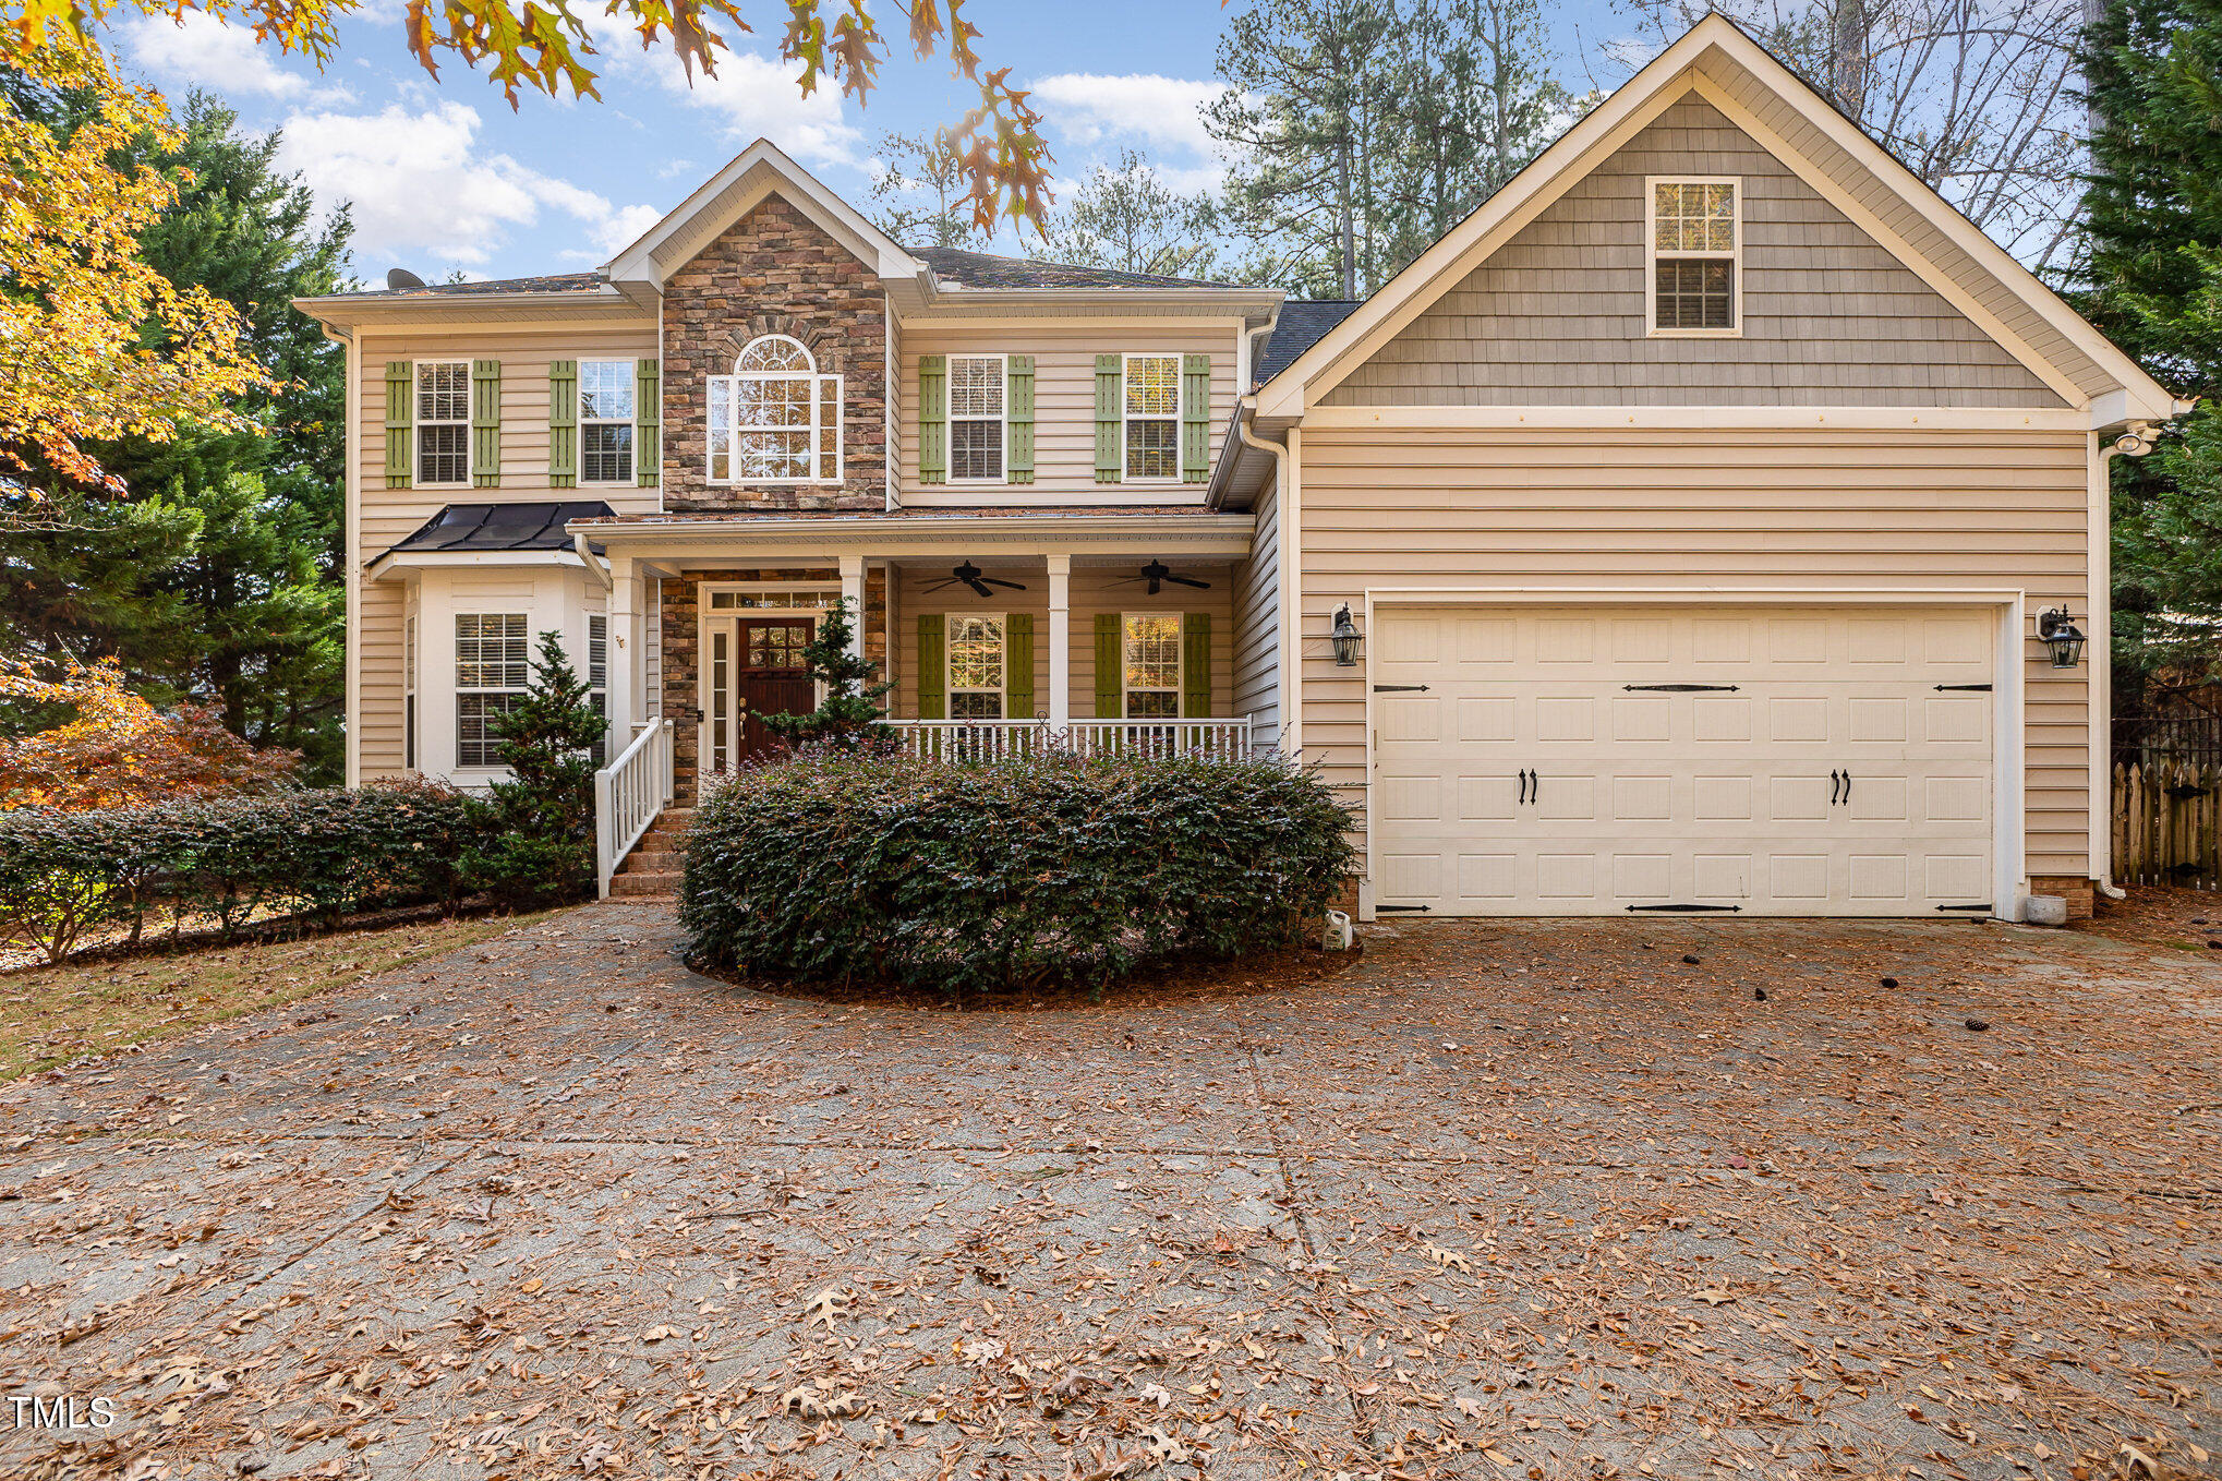
[[[840,478],[840,376],[820,376],[802,340],[749,340],[731,376],[709,378],[711,483]]]

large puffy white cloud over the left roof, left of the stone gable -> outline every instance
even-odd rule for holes
[[[293,113],[278,162],[300,171],[327,211],[353,205],[356,251],[371,269],[396,260],[469,269],[549,211],[578,227],[580,247],[558,256],[600,262],[660,216],[647,205],[613,207],[507,153],[482,156],[478,131],[478,109],[453,100],[416,111],[391,102],[378,113]]]

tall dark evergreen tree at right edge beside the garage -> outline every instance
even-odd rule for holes
[[[2080,305],[2169,391],[2182,436],[2113,463],[2115,672],[2222,672],[2222,0],[2111,0],[2091,27]]]

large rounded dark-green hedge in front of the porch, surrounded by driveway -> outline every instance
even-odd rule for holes
[[[1349,825],[1278,756],[802,756],[695,812],[680,925],[709,963],[804,981],[1109,981],[1309,936]]]

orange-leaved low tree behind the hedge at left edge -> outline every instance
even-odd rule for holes
[[[4,665],[0,700],[64,716],[20,740],[0,738],[0,812],[89,812],[269,792],[300,761],[298,752],[247,745],[216,709],[158,712],[124,687],[113,663],[71,665],[62,678]]]

